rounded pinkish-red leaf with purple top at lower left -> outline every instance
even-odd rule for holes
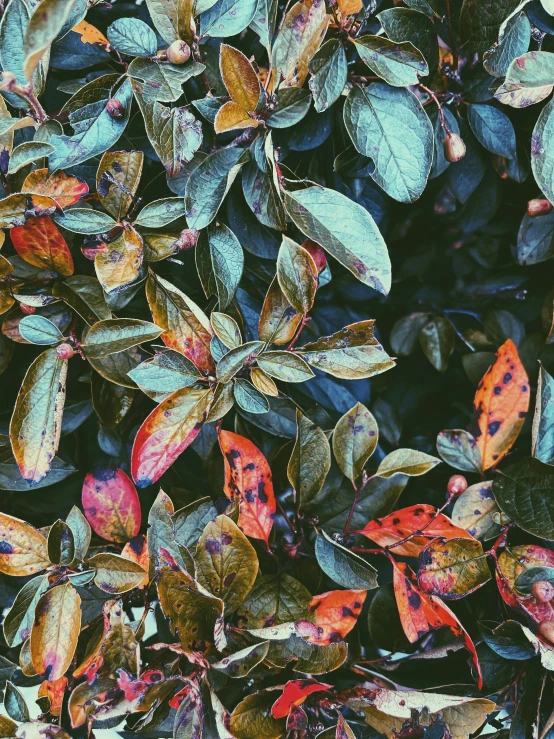
[[[116,467],[99,467],[83,482],[83,510],[94,532],[124,544],[140,531],[140,501],[131,480]]]

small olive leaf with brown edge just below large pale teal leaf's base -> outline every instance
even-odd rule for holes
[[[288,236],[283,236],[277,256],[277,279],[292,307],[308,313],[319,284],[317,267],[309,251]]]

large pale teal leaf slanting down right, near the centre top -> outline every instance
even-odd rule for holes
[[[285,208],[309,239],[320,244],[365,285],[388,294],[391,267],[387,247],[364,208],[323,187],[285,192]]]

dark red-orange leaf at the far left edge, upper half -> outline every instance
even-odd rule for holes
[[[10,231],[19,256],[34,267],[51,269],[64,277],[73,274],[73,257],[64,237],[50,218],[34,218]]]

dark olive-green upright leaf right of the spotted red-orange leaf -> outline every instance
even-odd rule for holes
[[[308,504],[320,492],[330,468],[331,448],[327,436],[297,409],[296,441],[287,476],[299,507]]]

